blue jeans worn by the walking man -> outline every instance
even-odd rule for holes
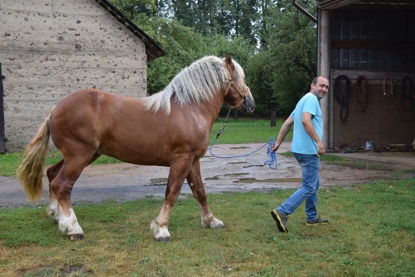
[[[312,221],[317,217],[317,191],[320,186],[320,157],[299,153],[293,153],[293,155],[302,168],[302,186],[282,203],[277,210],[284,215],[289,215],[305,201],[307,221]]]

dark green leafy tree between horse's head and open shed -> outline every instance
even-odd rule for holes
[[[312,1],[304,0],[305,4],[311,9]],[[261,40],[266,45],[251,59],[247,76],[261,92],[255,95],[256,111],[275,118],[277,112],[291,113],[316,74],[316,25],[291,3],[280,2],[267,12]]]

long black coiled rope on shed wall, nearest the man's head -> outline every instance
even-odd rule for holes
[[[339,75],[334,80],[334,98],[340,103],[340,120],[345,123],[349,117],[349,102],[352,97],[352,82],[346,75]],[[345,114],[343,115],[343,111]]]

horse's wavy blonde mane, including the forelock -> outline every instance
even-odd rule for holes
[[[233,81],[239,88],[244,89],[244,70],[237,62],[232,61],[235,66]],[[146,110],[161,110],[168,115],[173,94],[175,102],[183,108],[192,102],[207,101],[216,92],[224,90],[228,80],[225,58],[206,56],[184,68],[163,91],[142,98],[143,104]]]

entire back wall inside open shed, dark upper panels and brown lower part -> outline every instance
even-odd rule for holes
[[[415,98],[401,97],[401,87],[405,76],[415,82],[414,26],[414,10],[332,11],[329,142],[332,148],[364,147],[367,141],[373,141],[379,147],[412,144]],[[340,119],[341,105],[333,95],[334,81],[339,75],[346,75],[352,83],[345,123]],[[364,112],[358,107],[355,92],[358,76],[366,77],[369,83]],[[383,91],[388,76],[394,88],[390,97]],[[411,93],[409,83],[405,90],[406,95]],[[405,111],[402,102],[410,111]]]

